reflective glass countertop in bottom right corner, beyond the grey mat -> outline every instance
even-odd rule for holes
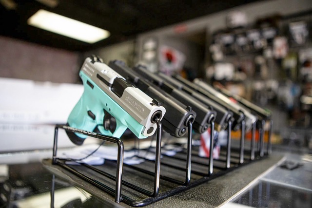
[[[232,202],[255,208],[311,208],[312,155],[288,154]]]

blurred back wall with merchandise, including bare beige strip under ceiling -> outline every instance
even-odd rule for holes
[[[146,50],[140,50],[145,41],[153,39],[156,52],[165,43],[185,56],[184,66],[167,74],[223,85],[270,109],[275,141],[283,143],[300,134],[295,136],[302,140],[297,146],[308,147],[306,138],[312,135],[312,10],[308,4],[304,0],[267,1],[142,34],[137,41],[138,57],[146,60],[142,58]],[[176,32],[176,28],[183,30]],[[162,71],[157,54],[161,56],[158,52],[149,59],[152,72]]]

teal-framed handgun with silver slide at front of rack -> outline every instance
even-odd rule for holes
[[[84,91],[70,113],[67,124],[74,129],[119,138],[129,128],[137,138],[154,134],[156,118],[166,109],[159,102],[131,85],[98,57],[87,57],[80,69]],[[85,135],[67,132],[76,145]]]

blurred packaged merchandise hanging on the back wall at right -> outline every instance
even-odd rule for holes
[[[271,107],[273,114],[279,115],[274,132],[284,139],[282,143],[298,140],[295,144],[299,147],[309,147],[312,137],[312,39],[308,35],[311,17],[312,12],[288,17],[277,14],[244,27],[217,31],[209,50],[213,61],[206,69],[211,84],[221,83],[233,93],[243,88],[240,92],[247,91],[241,94],[243,97],[262,107]],[[221,61],[233,63],[234,74],[243,73],[246,78],[216,79],[222,72],[216,67]],[[232,69],[222,68],[228,75],[233,73]]]

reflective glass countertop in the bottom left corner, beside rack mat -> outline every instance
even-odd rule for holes
[[[41,163],[0,165],[0,208],[119,207],[71,185]]]

